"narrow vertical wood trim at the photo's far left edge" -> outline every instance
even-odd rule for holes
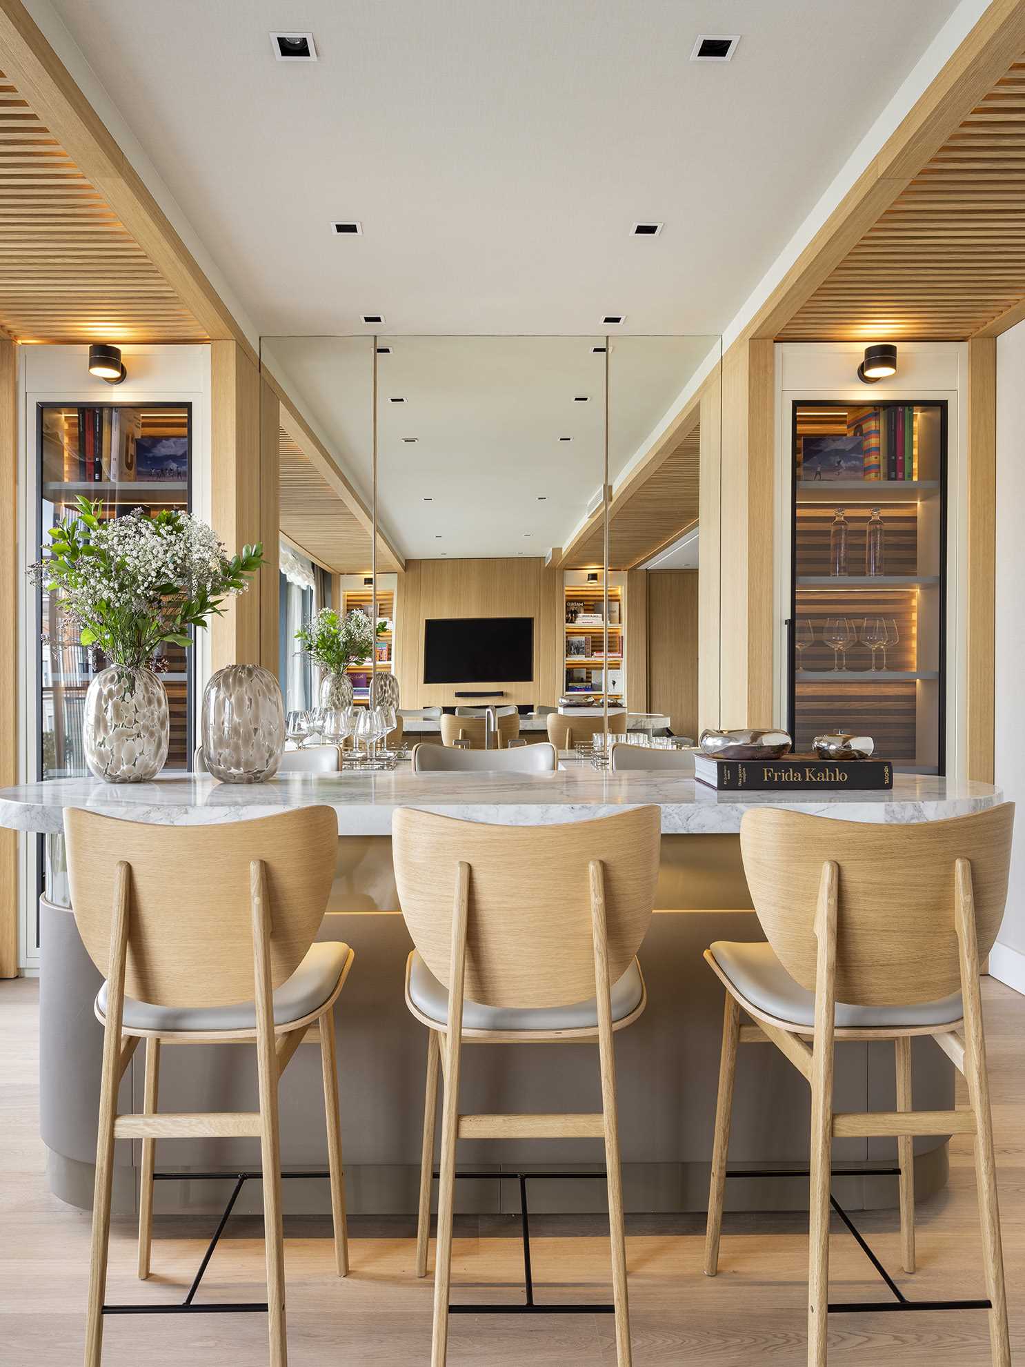
[[[0,339],[0,787],[18,782],[18,347]],[[0,977],[18,976],[18,833],[0,831]]]

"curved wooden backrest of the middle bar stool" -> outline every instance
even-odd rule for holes
[[[484,1006],[569,1006],[594,995],[593,867],[601,871],[610,982],[648,931],[659,809],[538,827],[403,808],[392,849],[402,915],[443,987],[452,987],[452,897],[465,869],[466,997]]]

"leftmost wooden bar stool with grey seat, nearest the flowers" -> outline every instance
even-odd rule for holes
[[[86,1325],[86,1367],[98,1367],[116,1139],[142,1140],[138,1274],[149,1275],[157,1139],[260,1140],[271,1363],[287,1362],[277,1084],[308,1028],[317,1027],[328,1129],[331,1208],[339,1275],[348,1270],[333,1005],[354,953],[313,943],[331,890],[338,819],[329,807],[231,826],[167,827],[96,812],[64,812],[68,876],[82,942],[107,982],[100,1131]],[[118,1087],[146,1040],[145,1111],[118,1114]],[[157,1114],[160,1046],[256,1043],[260,1110]],[[201,1311],[208,1307],[187,1303]]]

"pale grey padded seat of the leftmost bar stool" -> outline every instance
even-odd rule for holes
[[[348,945],[331,940],[310,945],[306,957],[273,994],[275,1025],[291,1025],[303,1016],[316,1014],[338,987],[350,956]],[[100,1024],[107,1023],[107,983],[96,998],[96,1016]],[[138,1002],[134,997],[124,998],[124,1029],[156,1031],[216,1031],[251,1029],[257,1025],[256,1002],[241,1002],[238,1006],[154,1006],[152,1002]]]

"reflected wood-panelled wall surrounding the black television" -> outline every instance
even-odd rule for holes
[[[560,576],[547,569],[544,560],[519,556],[495,560],[406,560],[406,573],[399,578],[395,651],[402,705],[451,707],[456,701],[456,689],[488,688],[506,694],[502,703],[554,704],[562,667],[555,644],[562,630],[562,622],[556,617],[556,578],[560,581]],[[533,679],[522,684],[507,679],[424,684],[424,622],[435,617],[532,617]]]

